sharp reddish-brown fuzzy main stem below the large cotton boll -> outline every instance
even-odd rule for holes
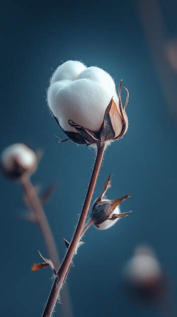
[[[60,291],[63,287],[63,284],[64,284],[65,279],[67,277],[67,274],[69,272],[69,268],[71,266],[73,256],[75,255],[75,251],[76,251],[78,242],[79,242],[81,234],[83,232],[84,223],[85,223],[87,213],[88,213],[88,210],[90,207],[90,203],[91,203],[93,191],[95,188],[97,176],[98,176],[99,169],[101,166],[101,162],[102,162],[102,158],[103,158],[103,154],[104,154],[104,149],[105,149],[105,143],[102,143],[102,144],[99,143],[97,145],[96,160],[95,160],[94,168],[92,171],[87,194],[85,197],[85,202],[84,202],[84,205],[83,205],[83,208],[81,211],[81,215],[80,215],[73,239],[72,239],[70,246],[67,250],[67,253],[65,255],[65,258],[61,264],[60,269],[57,272],[57,275],[56,275],[56,278],[54,280],[54,284],[52,286],[52,289],[51,289],[48,301],[46,303],[44,312],[42,314],[42,317],[50,317],[51,316],[53,309],[54,309],[54,306],[55,306],[55,303],[57,301],[57,298],[60,295]]]

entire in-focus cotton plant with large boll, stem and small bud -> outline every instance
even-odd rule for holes
[[[106,200],[105,192],[110,187],[109,177],[86,222],[105,148],[114,140],[121,139],[128,129],[126,106],[129,93],[124,87],[127,97],[123,106],[121,88],[122,81],[117,93],[113,78],[106,71],[96,66],[87,67],[80,61],[69,60],[63,63],[50,78],[47,102],[52,116],[67,136],[62,141],[72,140],[77,144],[90,145],[96,150],[96,157],[78,224],[71,242],[65,240],[67,252],[59,270],[43,257],[44,262],[38,264],[39,267],[50,266],[55,275],[42,317],[50,317],[56,301],[60,301],[61,289],[73,257],[83,243],[82,236],[89,226],[93,224],[98,229],[106,229],[129,214],[121,214],[118,206],[129,195],[114,201]]]

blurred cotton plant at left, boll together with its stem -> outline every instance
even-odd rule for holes
[[[51,259],[50,262],[58,269],[60,267],[60,259],[42,206],[49,199],[54,189],[54,184],[49,186],[39,196],[38,188],[31,182],[31,176],[37,170],[40,156],[41,151],[35,152],[23,143],[15,143],[6,147],[1,153],[0,167],[1,172],[5,176],[22,186],[24,203],[28,209],[25,217],[28,221],[35,223],[39,227],[46,251]],[[34,271],[45,266],[34,264],[32,270]],[[63,292],[63,300],[65,305],[61,306],[61,316],[68,317],[70,315],[72,317],[72,307],[66,287]]]

